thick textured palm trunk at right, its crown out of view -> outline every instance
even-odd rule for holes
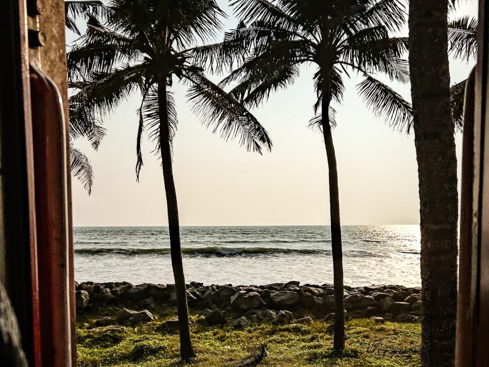
[[[453,366],[457,160],[450,114],[447,0],[410,0],[409,67],[421,217],[423,366]]]

